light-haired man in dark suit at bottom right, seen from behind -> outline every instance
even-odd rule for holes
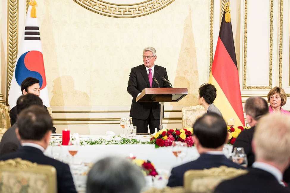
[[[290,117],[271,114],[262,117],[252,142],[255,162],[249,173],[220,183],[215,193],[286,193],[282,174],[290,164]]]

